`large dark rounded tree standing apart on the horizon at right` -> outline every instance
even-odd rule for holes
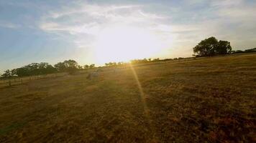
[[[196,56],[214,56],[217,54],[231,54],[232,47],[229,41],[218,41],[214,36],[202,40],[195,47],[193,52]]]

